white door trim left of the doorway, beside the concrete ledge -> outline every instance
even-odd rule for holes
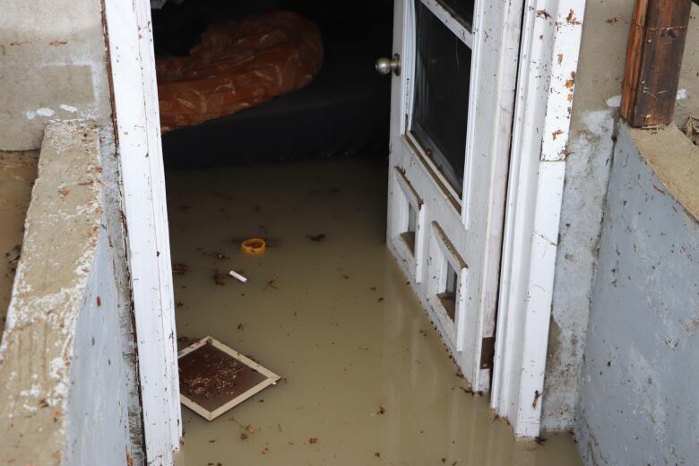
[[[149,465],[172,464],[182,422],[149,0],[103,0]]]

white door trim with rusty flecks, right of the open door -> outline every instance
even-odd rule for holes
[[[491,405],[539,436],[558,227],[585,0],[525,0]]]

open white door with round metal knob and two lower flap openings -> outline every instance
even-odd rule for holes
[[[395,0],[388,245],[490,386],[522,1]]]

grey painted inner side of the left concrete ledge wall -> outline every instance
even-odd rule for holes
[[[112,250],[104,230],[92,259],[73,334],[64,464],[128,465],[127,455],[134,459],[124,383],[130,368],[121,354]]]

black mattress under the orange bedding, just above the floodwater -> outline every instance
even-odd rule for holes
[[[374,71],[377,42],[325,43],[306,87],[162,137],[166,168],[301,160],[388,150],[390,86]]]

